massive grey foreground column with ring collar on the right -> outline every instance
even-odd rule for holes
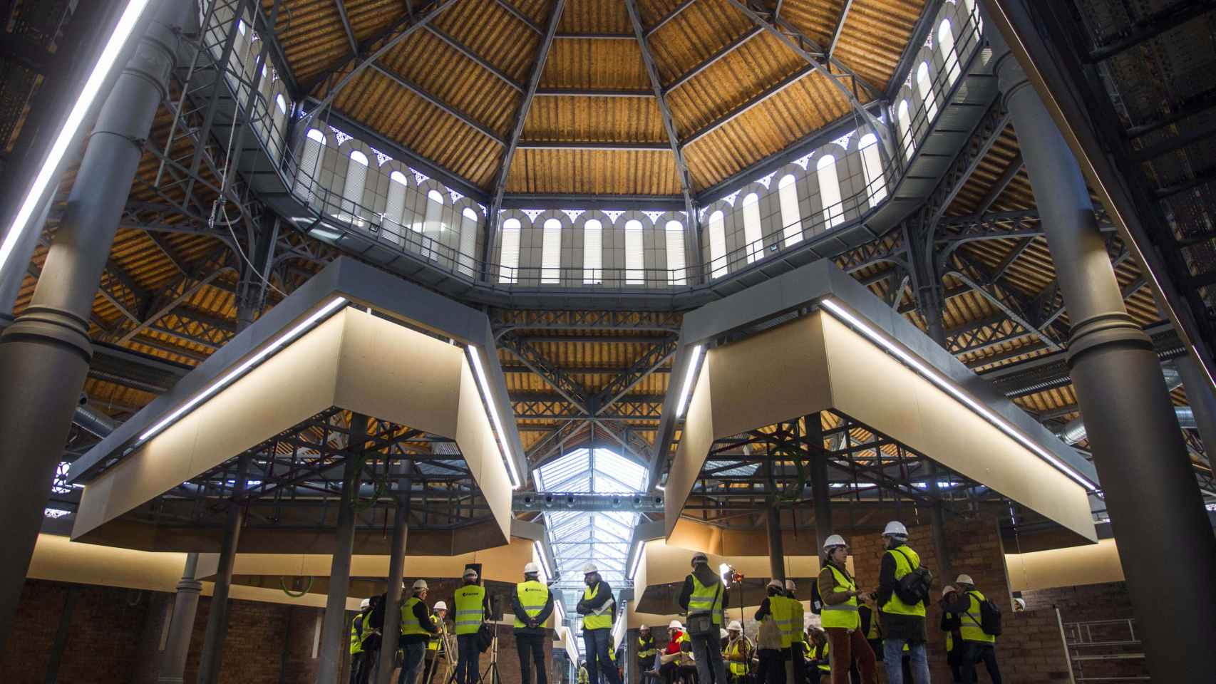
[[[993,63],[1068,307],[1069,374],[1154,682],[1216,672],[1216,538],[1148,335],[1124,306],[1076,159],[997,23]],[[1170,558],[1155,559],[1169,549]],[[1166,589],[1166,590],[1162,590]]]

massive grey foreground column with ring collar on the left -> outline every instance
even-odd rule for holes
[[[193,2],[164,0],[97,117],[43,277],[0,335],[0,648],[89,369],[89,316],[157,107],[168,96],[180,27]],[[30,228],[34,230],[34,228]]]

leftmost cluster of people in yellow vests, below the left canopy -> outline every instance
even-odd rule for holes
[[[519,671],[523,684],[533,684],[533,667],[536,669],[536,684],[546,684],[544,624],[553,612],[553,597],[548,587],[540,582],[540,569],[536,564],[527,564],[523,575],[523,582],[516,584],[511,595]],[[396,657],[394,662],[387,663],[387,667],[400,667],[396,684],[479,683],[483,677],[479,668],[480,655],[488,646],[484,626],[490,620],[491,609],[490,598],[480,583],[477,570],[472,567],[465,570],[462,584],[454,592],[455,614],[451,631],[446,621],[447,604],[435,601],[428,609],[426,603],[428,593],[426,580],[418,580],[410,594],[402,597],[399,603],[401,618],[396,638]],[[351,684],[376,682],[376,675],[383,665],[379,662],[379,654],[384,638],[387,603],[385,594],[365,599],[359,615],[351,622]],[[440,662],[449,660],[452,651],[456,654],[455,668],[450,674],[445,672],[443,678],[435,682]],[[421,682],[418,682],[420,674]]]

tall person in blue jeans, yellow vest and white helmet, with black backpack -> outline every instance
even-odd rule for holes
[[[893,520],[883,528],[886,548],[878,569],[878,610],[883,621],[883,663],[888,684],[903,684],[900,661],[908,649],[912,680],[929,684],[929,660],[925,651],[924,598],[905,603],[896,590],[900,580],[921,567],[921,556],[907,545],[908,531]]]

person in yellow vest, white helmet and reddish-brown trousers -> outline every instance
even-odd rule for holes
[[[820,595],[823,598],[823,631],[832,652],[832,684],[849,682],[849,667],[854,661],[861,673],[862,684],[878,682],[874,651],[871,650],[861,628],[858,599],[867,594],[857,590],[857,583],[845,563],[849,545],[840,535],[832,535],[823,542],[823,570],[820,571]]]

